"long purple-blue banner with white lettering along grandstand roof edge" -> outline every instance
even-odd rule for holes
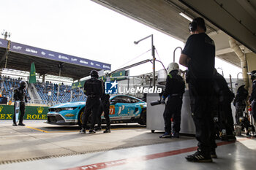
[[[37,56],[39,58],[47,58],[54,61],[61,61],[64,63],[73,63],[80,66],[88,66],[93,69],[104,69],[104,70],[110,70],[111,65],[108,63],[101,63],[98,61],[91,61],[86,58],[78,58],[72,55],[67,55],[63,53],[56,53],[50,50],[44,50],[37,47],[31,47],[29,45],[22,45],[16,42],[11,42],[10,51],[26,54],[26,55],[32,55]]]

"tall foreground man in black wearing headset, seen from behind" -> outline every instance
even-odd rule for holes
[[[212,158],[217,158],[211,103],[214,92],[215,45],[206,34],[203,18],[192,20],[192,23],[189,23],[189,31],[192,35],[187,39],[179,63],[188,67],[190,107],[198,149],[186,159],[193,162],[212,162]]]

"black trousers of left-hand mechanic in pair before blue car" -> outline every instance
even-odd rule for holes
[[[84,108],[84,114],[82,117],[83,124],[82,127],[86,128],[89,117],[91,115],[91,125],[90,128],[93,129],[95,125],[95,121],[97,120],[97,115],[99,112],[99,97],[88,97],[86,100],[86,107]]]

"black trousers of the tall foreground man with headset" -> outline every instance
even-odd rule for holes
[[[217,147],[212,108],[213,92],[211,80],[201,79],[189,82],[190,106],[195,123],[197,146],[207,155]]]

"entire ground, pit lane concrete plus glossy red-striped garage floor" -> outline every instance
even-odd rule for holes
[[[138,125],[118,125],[110,134],[79,134],[75,126],[0,123],[0,169],[255,169],[256,139],[217,140],[213,163],[191,163],[192,136],[159,139]]]

